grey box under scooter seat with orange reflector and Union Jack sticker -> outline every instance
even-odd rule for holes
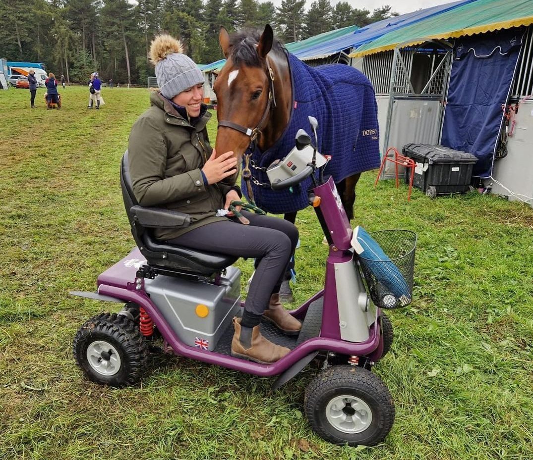
[[[220,285],[158,275],[145,280],[150,299],[180,340],[213,350],[240,308],[240,270],[228,267]]]

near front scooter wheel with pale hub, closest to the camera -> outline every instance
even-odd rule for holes
[[[304,404],[313,431],[334,444],[374,446],[394,422],[389,390],[362,367],[327,368],[308,385]]]

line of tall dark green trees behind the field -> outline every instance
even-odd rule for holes
[[[282,0],[3,0],[0,57],[44,62],[47,71],[83,83],[94,70],[104,79],[144,84],[154,75],[148,51],[161,31],[181,38],[197,63],[222,59],[220,26],[230,32],[270,23],[285,43],[329,30],[359,27],[397,15],[348,2]]]

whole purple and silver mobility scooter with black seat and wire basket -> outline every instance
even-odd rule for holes
[[[316,138],[316,120],[310,121]],[[112,387],[137,383],[148,358],[147,338],[157,329],[164,348],[174,354],[278,376],[274,389],[307,365],[320,369],[304,398],[312,429],[336,444],[381,442],[392,427],[394,404],[371,368],[393,340],[382,308],[411,300],[416,235],[394,230],[369,236],[360,227],[352,230],[333,179],[324,179],[326,167],[327,159],[303,129],[287,157],[269,167],[276,190],[310,184],[309,203],[328,240],[329,255],[324,289],[290,312],[302,321],[300,334],[287,336],[261,323],[266,338],[291,350],[266,365],[231,356],[232,318],[244,304],[240,270],[232,266],[236,258],[155,240],[150,228],[187,226],[189,217],[139,206],[126,151],[120,183],[137,247],[98,277],[96,292],[72,292],[124,304],[118,313],[89,319],[76,333],[74,357],[88,379]]]

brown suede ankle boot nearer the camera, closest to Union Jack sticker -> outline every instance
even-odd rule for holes
[[[290,350],[266,340],[259,331],[259,326],[241,327],[241,318],[233,318],[235,334],[231,341],[231,355],[249,359],[261,364],[275,363]]]

